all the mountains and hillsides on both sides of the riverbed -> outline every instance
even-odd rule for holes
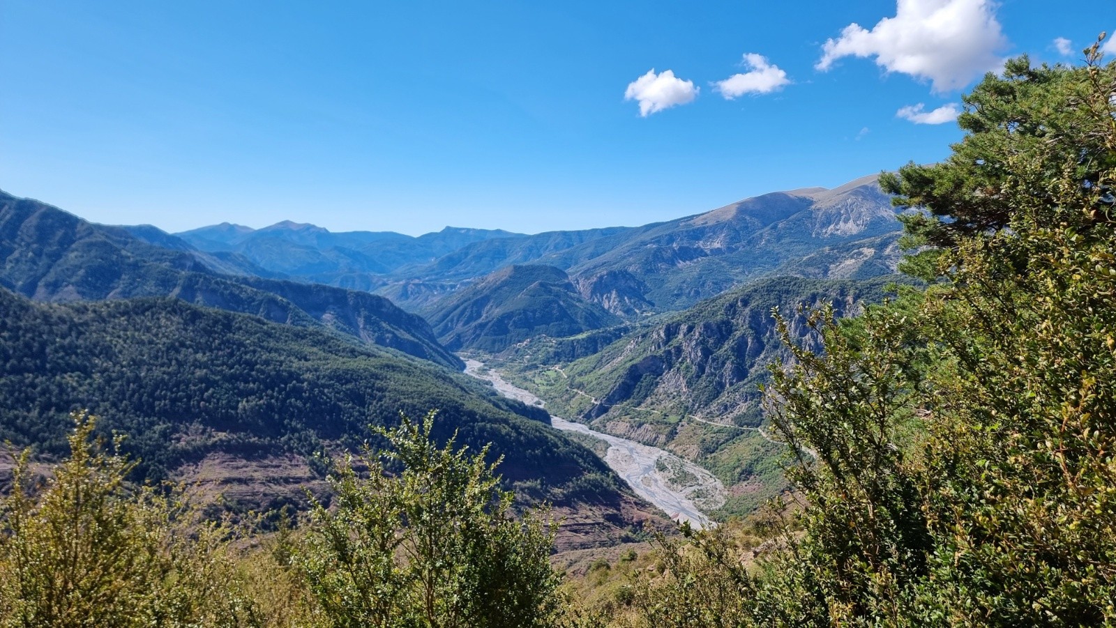
[[[567,509],[570,547],[661,521],[545,410],[452,373],[468,351],[567,417],[704,465],[730,490],[720,514],[739,514],[786,487],[757,393],[786,359],[771,308],[878,299],[898,231],[875,176],[535,235],[170,234],[0,193],[0,364],[19,375],[0,387],[0,432],[49,454],[88,407],[151,473],[233,493],[250,476],[239,495],[258,502],[269,475],[320,481],[307,456],[354,446],[364,422],[437,407],[445,429],[493,442],[517,490]]]

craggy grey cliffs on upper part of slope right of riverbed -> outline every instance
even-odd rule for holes
[[[583,410],[608,422],[633,413],[692,415],[759,425],[758,385],[767,365],[786,358],[772,308],[790,319],[791,332],[810,342],[798,305],[834,303],[852,312],[878,299],[885,279],[867,282],[772,278],[699,303],[667,321],[629,335],[566,368],[571,386],[593,397]],[[638,419],[636,419],[638,423]]]

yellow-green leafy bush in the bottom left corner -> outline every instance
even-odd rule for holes
[[[175,492],[129,486],[132,463],[76,414],[70,457],[38,494],[27,456],[0,505],[0,626],[239,626],[252,605],[234,586],[224,530]]]

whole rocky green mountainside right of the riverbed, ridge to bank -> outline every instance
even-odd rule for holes
[[[787,489],[783,448],[761,407],[769,365],[790,358],[772,311],[792,338],[817,347],[809,308],[831,303],[837,316],[852,316],[896,281],[910,280],[759,279],[623,334],[536,337],[493,363],[560,416],[705,466],[729,487],[715,514],[747,514]]]

